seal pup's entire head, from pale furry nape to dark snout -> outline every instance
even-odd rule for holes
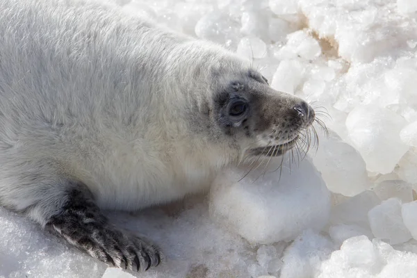
[[[316,113],[306,101],[272,89],[247,60],[221,49],[201,49],[190,50],[198,51],[193,63],[180,56],[182,74],[171,79],[181,81],[180,91],[186,92],[181,96],[188,96],[181,110],[188,113],[188,140],[197,142],[190,143],[190,148],[196,146],[193,152],[213,161],[241,163],[309,145]]]

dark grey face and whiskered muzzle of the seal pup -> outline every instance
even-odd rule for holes
[[[306,101],[270,88],[255,70],[234,74],[213,95],[213,117],[241,156],[279,156],[295,146],[315,120]]]

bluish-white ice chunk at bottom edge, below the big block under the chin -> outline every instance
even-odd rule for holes
[[[329,239],[311,230],[304,231],[286,249],[280,278],[312,277],[321,261],[333,250],[334,245]]]

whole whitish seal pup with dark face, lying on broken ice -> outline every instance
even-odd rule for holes
[[[207,190],[279,156],[315,119],[250,63],[117,8],[0,1],[0,204],[91,256],[147,270],[163,253],[102,210]]]

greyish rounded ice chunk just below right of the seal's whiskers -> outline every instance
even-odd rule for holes
[[[320,135],[318,152],[312,154],[314,165],[322,173],[327,188],[334,193],[354,196],[370,187],[366,164],[354,147],[343,142],[336,133],[329,138]]]

